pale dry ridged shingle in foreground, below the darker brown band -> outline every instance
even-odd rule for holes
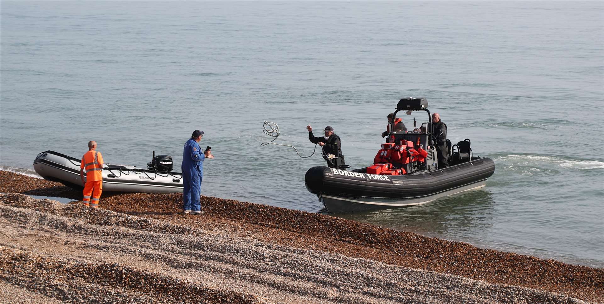
[[[0,280],[42,303],[583,303],[18,193],[0,228]]]

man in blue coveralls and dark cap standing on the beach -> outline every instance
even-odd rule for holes
[[[182,209],[185,214],[202,215],[201,203],[201,179],[204,176],[205,158],[214,158],[210,150],[202,153],[199,141],[204,137],[204,131],[195,130],[191,139],[187,140],[182,151]]]

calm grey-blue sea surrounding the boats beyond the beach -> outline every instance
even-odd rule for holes
[[[386,115],[424,96],[454,142],[495,160],[480,190],[343,215],[480,247],[604,267],[604,4],[592,2],[0,2],[0,169],[73,157],[216,158],[204,195],[319,212],[304,126],[373,161]],[[425,121],[425,113],[413,117]]]

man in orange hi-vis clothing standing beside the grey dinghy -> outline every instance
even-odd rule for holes
[[[84,205],[98,207],[98,199],[103,192],[103,156],[95,151],[97,142],[88,141],[88,152],[82,157],[80,164],[80,178],[84,185]],[[84,184],[84,170],[86,170],[86,184]],[[92,196],[92,202],[91,202]]]

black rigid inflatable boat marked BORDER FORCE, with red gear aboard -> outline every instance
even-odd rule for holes
[[[495,172],[495,163],[486,157],[474,157],[471,140],[455,145],[447,140],[449,167],[439,168],[432,122],[425,98],[401,99],[399,111],[428,112],[428,122],[414,132],[393,131],[389,143],[382,144],[372,166],[346,170],[337,160],[326,158],[329,167],[312,167],[304,181],[328,212],[343,213],[421,205],[443,196],[484,187]],[[416,121],[414,120],[414,126]],[[422,132],[423,131],[423,132]]]

